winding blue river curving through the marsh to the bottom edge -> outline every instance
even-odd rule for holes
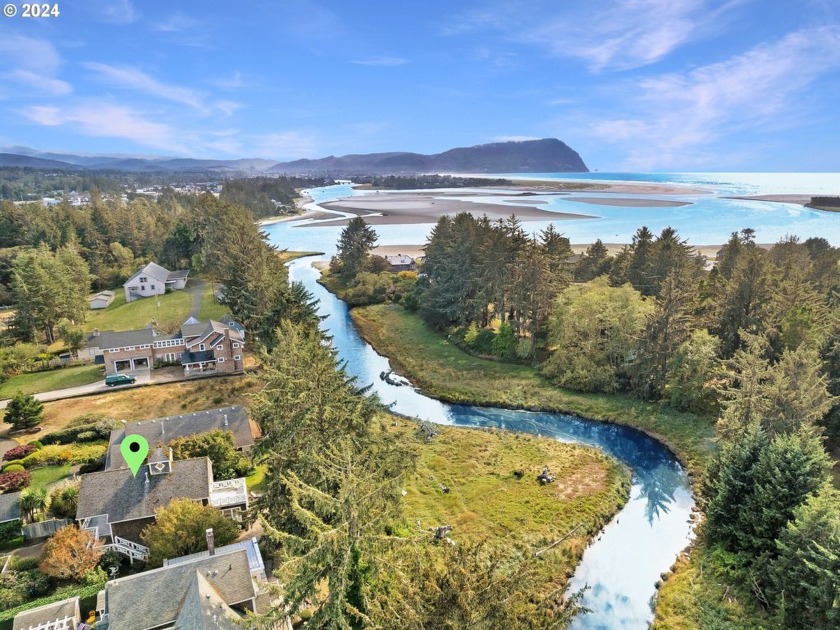
[[[390,370],[356,332],[347,305],[316,281],[313,258],[289,264],[292,280],[319,300],[326,315],[321,326],[332,337],[339,359],[360,384],[372,384],[383,402],[402,415],[468,427],[496,427],[595,446],[624,462],[632,471],[630,500],[584,552],[571,588],[588,585],[583,604],[592,612],[579,616],[573,628],[647,628],[653,618],[655,583],[689,543],[694,500],[683,467],[661,443],[635,429],[557,413],[450,405],[411,387],[379,378]]]

